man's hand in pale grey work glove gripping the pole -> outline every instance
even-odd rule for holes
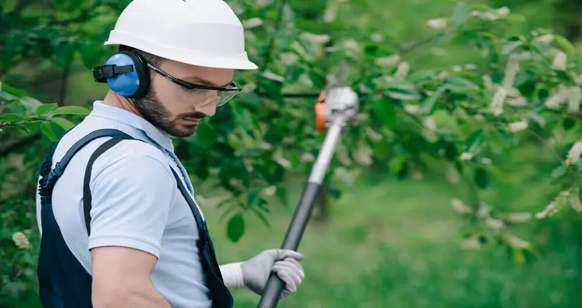
[[[303,267],[299,264],[301,259],[303,255],[296,251],[284,249],[263,251],[240,264],[242,281],[253,292],[262,295],[270,272],[273,271],[285,283],[281,292],[281,298],[284,298],[295,292],[305,277]]]

